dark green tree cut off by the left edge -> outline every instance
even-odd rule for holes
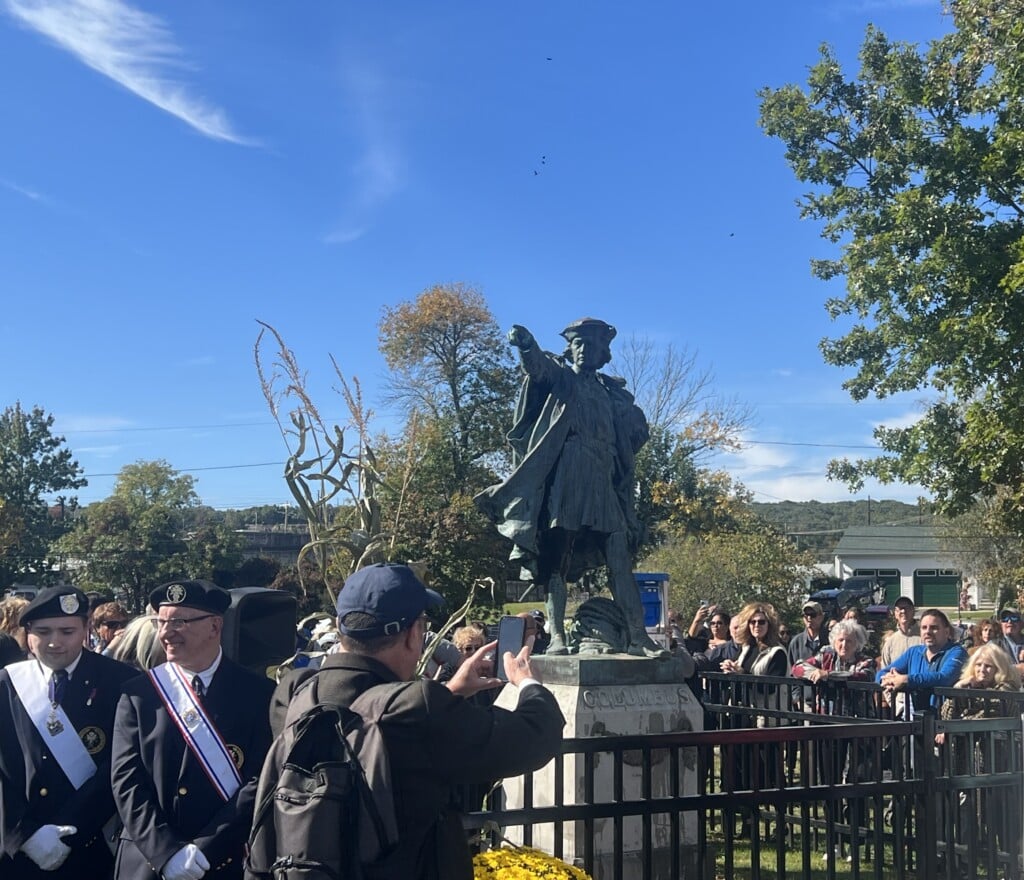
[[[71,527],[82,468],[53,433],[53,416],[20,403],[0,413],[0,586],[45,583],[51,545]],[[52,508],[52,509],[51,509]]]

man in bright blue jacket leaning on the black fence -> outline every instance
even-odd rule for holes
[[[929,609],[921,616],[921,644],[904,651],[876,675],[887,692],[910,695],[916,710],[936,708],[936,687],[951,687],[967,662],[967,652],[952,640],[952,625],[944,612]]]

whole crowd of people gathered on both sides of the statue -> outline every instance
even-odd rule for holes
[[[395,685],[381,729],[407,831],[368,876],[471,877],[456,787],[485,791],[559,747],[561,712],[530,665],[531,649],[546,642],[543,613],[521,615],[522,652],[495,658],[486,625],[466,622],[441,639],[427,618],[441,597],[407,567],[372,565],[349,578],[336,615],[300,622],[303,662],[275,688],[224,655],[229,601],[205,581],[157,588],[139,617],[70,586],[0,601],[0,875],[243,877],[264,758],[294,696],[315,680],[316,699],[339,705]],[[815,601],[804,604],[803,628],[792,636],[768,602],[734,615],[703,602],[685,631],[678,613],[669,620],[676,649],[690,653],[697,670],[792,676],[788,705],[806,712],[847,711],[838,702],[844,680],[873,679],[894,710],[927,708],[946,720],[999,711],[977,690],[1021,688],[1016,609],[964,632],[936,609],[919,618],[905,596],[893,617],[881,641],[856,615],[829,625]],[[431,663],[421,670],[425,655]],[[505,683],[496,664],[520,693],[514,711],[494,705]],[[968,688],[965,698],[940,705],[935,688],[951,686]],[[779,723],[764,695],[784,692],[750,688],[742,726]],[[940,735],[937,745],[944,742]],[[980,749],[954,746],[952,754],[963,767],[995,760]],[[847,755],[842,772],[856,763]],[[738,765],[733,784],[749,785],[746,772]]]

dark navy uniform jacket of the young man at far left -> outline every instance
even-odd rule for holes
[[[0,874],[6,878],[110,876],[111,850],[102,826],[115,814],[111,743],[121,692],[138,670],[88,651],[68,682],[61,708],[96,762],[78,790],[65,776],[29,717],[6,670],[0,670]],[[40,871],[22,844],[43,825],[73,825],[63,842],[72,854],[57,871]],[[8,861],[10,860],[10,861]]]

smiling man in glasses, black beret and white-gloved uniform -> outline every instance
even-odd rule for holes
[[[273,682],[224,657],[230,595],[208,581],[150,594],[167,663],[125,689],[112,780],[119,880],[241,878]]]

